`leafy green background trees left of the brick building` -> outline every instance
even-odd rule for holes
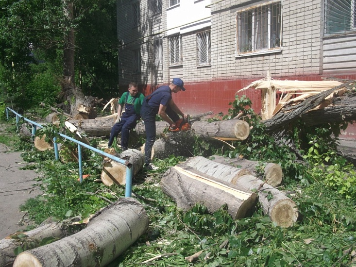
[[[101,96],[117,87],[114,0],[0,3],[0,101],[26,109],[66,99],[75,84]]]

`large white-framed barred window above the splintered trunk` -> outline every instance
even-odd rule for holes
[[[280,48],[282,46],[281,20],[281,2],[238,12],[238,54]]]

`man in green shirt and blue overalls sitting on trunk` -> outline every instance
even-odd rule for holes
[[[137,121],[141,118],[140,110],[144,98],[144,95],[138,92],[137,84],[130,83],[129,91],[123,93],[119,100],[118,118],[111,128],[108,148],[111,148],[114,138],[118,137],[121,132],[121,149],[122,151],[127,150],[130,130],[136,127]],[[125,112],[122,112],[124,105]]]

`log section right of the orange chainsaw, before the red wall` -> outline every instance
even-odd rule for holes
[[[204,139],[245,140],[250,134],[246,121],[229,119],[214,122],[196,121],[192,124],[194,134]]]

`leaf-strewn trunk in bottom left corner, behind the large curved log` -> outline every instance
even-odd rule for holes
[[[29,244],[39,247],[41,241],[50,238],[63,238],[78,229],[77,223],[49,223],[31,231],[17,232],[0,240],[0,267],[11,267],[15,261],[15,250]]]

